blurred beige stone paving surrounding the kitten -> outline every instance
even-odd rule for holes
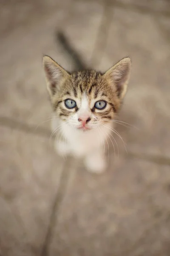
[[[170,1],[0,1],[0,256],[170,255]],[[130,55],[103,175],[49,145],[42,55],[74,70]],[[46,121],[46,122],[45,122]]]

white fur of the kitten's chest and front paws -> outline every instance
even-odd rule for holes
[[[111,124],[90,131],[79,131],[67,124],[52,120],[51,128],[54,131],[59,127],[60,135],[56,141],[55,148],[60,155],[72,154],[75,157],[84,157],[85,165],[92,172],[102,172],[105,169],[104,153],[108,134],[111,133]],[[59,131],[57,130],[57,131]]]

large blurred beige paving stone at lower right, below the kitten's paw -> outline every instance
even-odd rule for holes
[[[50,255],[168,255],[170,172],[141,160],[111,160],[104,175],[81,164],[57,213]]]

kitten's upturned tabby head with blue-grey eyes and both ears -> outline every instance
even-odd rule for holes
[[[68,73],[48,56],[43,66],[53,110],[73,128],[87,131],[113,119],[127,90],[130,58],[123,58],[104,74]]]

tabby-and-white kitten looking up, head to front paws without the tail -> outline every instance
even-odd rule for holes
[[[94,70],[69,73],[48,56],[43,58],[43,67],[54,111],[52,129],[62,134],[55,143],[57,152],[83,157],[89,171],[103,172],[103,144],[127,90],[130,58],[104,74]]]

